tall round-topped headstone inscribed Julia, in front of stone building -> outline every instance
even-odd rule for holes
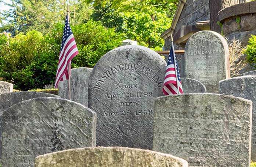
[[[201,81],[208,92],[218,92],[219,81],[230,77],[228,52],[228,44],[220,34],[193,34],[185,46],[185,76]]]

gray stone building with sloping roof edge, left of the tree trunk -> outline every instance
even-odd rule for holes
[[[171,46],[170,35],[176,50],[183,50],[188,38],[197,31],[210,30],[209,0],[180,0],[171,27],[162,34],[164,50]]]

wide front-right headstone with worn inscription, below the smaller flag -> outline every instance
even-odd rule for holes
[[[250,100],[206,93],[155,100],[153,150],[191,167],[249,167],[251,130]]]

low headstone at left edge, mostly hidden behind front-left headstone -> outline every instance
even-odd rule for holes
[[[21,101],[29,100],[40,97],[60,97],[53,94],[42,93],[42,92],[12,92],[0,95],[0,117],[2,112],[8,107],[15,105]]]

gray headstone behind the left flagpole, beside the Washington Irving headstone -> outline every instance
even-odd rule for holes
[[[71,69],[71,100],[88,106],[88,82],[92,68]],[[59,96],[69,99],[68,80],[59,83]]]

